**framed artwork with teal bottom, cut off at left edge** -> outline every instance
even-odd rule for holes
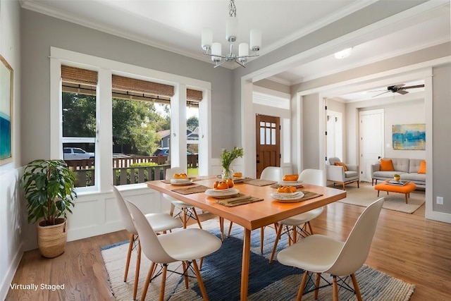
[[[0,166],[13,161],[13,68],[0,55]]]

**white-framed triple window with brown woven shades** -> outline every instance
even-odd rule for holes
[[[70,70],[76,70],[83,75],[78,80],[65,78],[63,68],[66,67],[63,66],[69,66]],[[92,79],[91,75],[93,74],[97,76],[96,82],[89,80]],[[187,152],[187,135],[180,134],[187,132],[185,120],[187,106],[196,106],[202,100],[202,105],[199,106],[199,114],[201,115],[199,124],[208,125],[211,122],[208,114],[211,104],[209,82],[78,54],[55,47],[51,47],[50,76],[50,156],[60,158],[69,155],[88,157],[88,159],[70,160],[77,166],[83,166],[87,174],[91,173],[90,176],[80,176],[83,179],[87,178],[86,182],[88,183],[78,185],[79,195],[80,192],[92,193],[111,190],[111,184],[116,178],[116,172],[113,171],[113,164],[116,159],[122,159],[121,162],[128,160],[126,164],[130,164],[130,161],[133,160],[137,161],[133,154],[128,156],[116,152],[116,147],[120,148],[123,145],[125,148],[125,143],[119,142],[118,138],[134,137],[135,141],[142,141],[148,138],[149,135],[147,134],[153,134],[152,131],[156,130],[150,119],[152,116],[148,115],[148,113],[152,113],[153,106],[159,105],[159,103],[165,106],[170,104],[171,106],[169,116],[172,140],[170,141],[171,152],[169,153],[172,155],[171,164],[173,166],[187,165],[187,154],[189,154]],[[113,80],[113,78],[115,79]],[[123,84],[127,81],[132,82],[133,89],[125,88]],[[143,81],[150,82],[149,87],[152,86],[154,90],[143,90]],[[172,93],[173,96],[170,96]],[[80,104],[83,104],[83,106]],[[117,110],[121,105],[139,107],[137,108],[138,113],[142,113],[143,108],[147,110],[147,115],[144,114],[142,118],[135,118],[136,116],[134,116],[133,118],[123,119],[123,123],[130,120],[135,121],[135,119],[140,120],[139,127],[142,129],[142,133],[135,131],[125,132],[123,135],[115,133],[114,127],[120,120],[116,113],[121,112],[121,110]],[[81,116],[73,113],[74,108],[80,112]],[[116,113],[113,113],[113,111],[116,111]],[[73,120],[70,118],[73,118]],[[79,120],[77,126],[67,126],[70,125],[70,122],[75,124],[76,118]],[[116,128],[122,130],[118,126]],[[149,131],[149,128],[152,130]],[[209,135],[211,135],[209,128],[199,128],[199,133],[204,138],[199,140],[199,152],[204,149],[203,153],[209,154]],[[114,134],[111,135],[112,133]],[[130,144],[129,147],[137,149],[140,146]],[[78,149],[78,151],[75,149]],[[148,152],[149,156],[154,151],[155,149],[147,149],[147,147],[140,149],[140,152]],[[201,161],[204,166],[202,174],[208,174],[211,159],[205,156]],[[156,172],[155,176],[161,174],[161,172]],[[125,177],[130,176],[126,175]],[[154,176],[154,171],[152,171],[152,176]]]

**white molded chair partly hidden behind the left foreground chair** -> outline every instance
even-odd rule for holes
[[[119,211],[121,212],[122,223],[125,227],[125,230],[130,232],[130,243],[128,244],[128,254],[127,254],[127,263],[125,264],[125,273],[124,273],[124,282],[127,281],[128,276],[128,268],[130,266],[130,257],[132,255],[132,249],[134,242],[137,241],[138,245],[138,253],[136,257],[136,270],[135,270],[135,286],[133,288],[133,299],[136,299],[136,293],[138,288],[138,281],[140,278],[140,263],[141,263],[141,245],[138,237],[138,233],[136,231],[135,225],[132,221],[132,216],[130,215],[130,211],[128,210],[127,205],[125,204],[125,200],[121,192],[113,186],[113,192],[116,197],[116,204],[118,204]],[[152,213],[146,214],[145,218],[149,223],[154,226],[154,231],[156,232],[166,232],[171,231],[173,228],[178,228],[182,226],[182,223],[178,219],[174,219],[169,214],[164,213]]]

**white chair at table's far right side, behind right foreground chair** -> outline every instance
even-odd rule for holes
[[[324,172],[320,169],[304,169],[299,174],[299,180],[302,180],[302,183],[323,186]],[[280,240],[280,235],[285,233],[288,234],[288,245],[291,245],[291,242],[296,243],[298,233],[302,237],[314,234],[310,221],[319,216],[321,213],[323,213],[323,207],[316,208],[302,214],[297,214],[288,219],[279,221],[276,225],[277,235],[276,240],[274,241],[273,253],[271,254],[269,263],[273,262],[274,254],[276,254],[277,245]],[[307,226],[309,227],[308,230]],[[282,233],[283,229],[285,229],[285,231]]]

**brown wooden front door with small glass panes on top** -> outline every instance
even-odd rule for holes
[[[257,178],[267,166],[280,166],[280,118],[257,114]]]

